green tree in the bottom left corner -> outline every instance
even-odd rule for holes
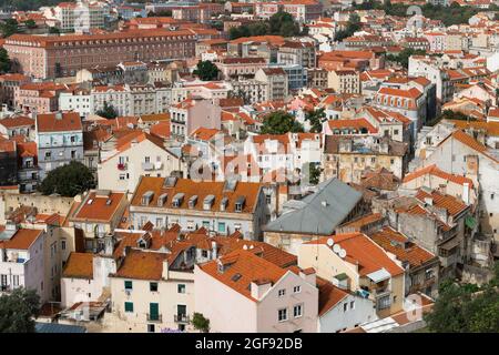
[[[34,333],[40,297],[33,290],[16,288],[0,296],[0,333]]]

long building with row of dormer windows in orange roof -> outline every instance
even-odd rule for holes
[[[156,229],[179,224],[182,231],[204,226],[258,240],[266,223],[266,202],[258,183],[142,176],[131,200],[130,219],[135,229],[147,222]]]

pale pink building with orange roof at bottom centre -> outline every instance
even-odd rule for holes
[[[194,268],[196,312],[211,332],[317,332],[314,270],[283,268],[251,247]]]

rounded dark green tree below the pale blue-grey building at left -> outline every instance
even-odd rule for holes
[[[44,195],[59,193],[73,197],[79,193],[93,189],[95,181],[92,172],[80,162],[72,161],[49,172],[39,185]]]

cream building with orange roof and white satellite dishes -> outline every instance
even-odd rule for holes
[[[404,268],[365,234],[337,234],[305,243],[299,247],[298,265],[314,267],[318,276],[373,300],[379,317],[403,310]]]

